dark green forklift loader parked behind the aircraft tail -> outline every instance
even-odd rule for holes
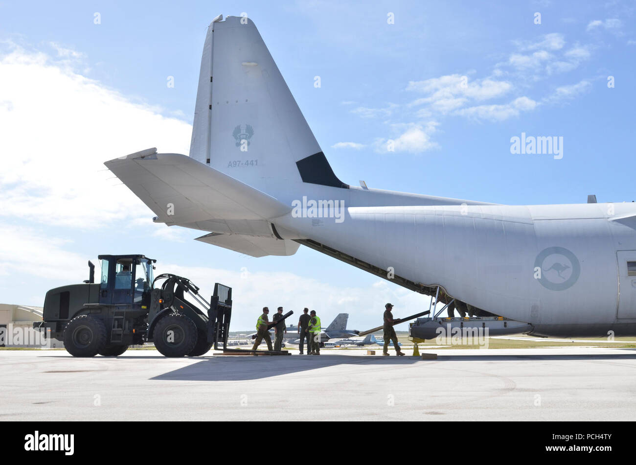
[[[166,357],[196,357],[219,342],[227,349],[232,288],[214,284],[207,302],[189,279],[174,274],[153,277],[156,260],[144,255],[100,255],[101,276],[88,261],[82,284],[46,293],[43,321],[75,357],[120,356],[130,345],[154,343]],[[186,300],[186,296],[190,300]],[[195,303],[193,303],[193,302]]]

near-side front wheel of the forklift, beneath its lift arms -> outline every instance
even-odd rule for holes
[[[166,357],[183,357],[197,345],[197,325],[185,315],[169,314],[160,319],[153,331],[155,347]]]

